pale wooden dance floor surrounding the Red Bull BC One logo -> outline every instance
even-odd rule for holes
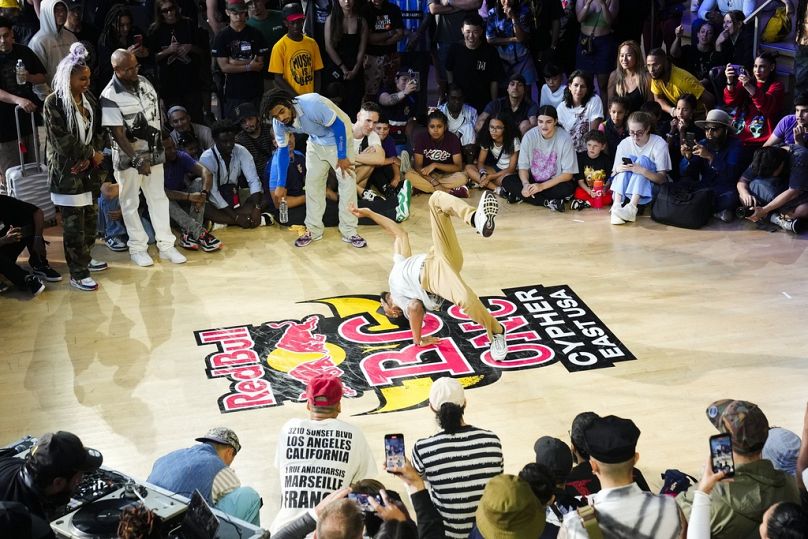
[[[479,195],[472,197],[476,203]],[[405,223],[416,251],[430,241],[426,202],[416,197]],[[59,230],[48,233],[52,265],[66,276]],[[278,227],[227,229],[220,253],[152,268],[99,244],[94,254],[111,268],[97,276],[98,292],[76,291],[65,279],[33,300],[0,298],[0,442],[71,430],[104,453],[105,465],[143,479],[159,455],[226,425],[241,438],[234,467],[263,495],[268,526],[278,506],[277,433],[304,406],[221,414],[217,398],[228,384],[207,379],[212,350],[196,345],[194,331],[327,314],[298,302],[378,293],[390,241],[376,227],[360,233],[366,249],[339,241],[336,229],[295,249],[295,234]],[[605,209],[558,214],[504,205],[491,239],[465,227],[459,238],[464,276],[479,295],[569,285],[637,356],[586,372],[558,363],[504,372],[468,391],[466,420],[499,434],[507,472],[533,458],[537,437],[566,440],[584,410],[634,419],[642,430],[639,467],[657,485],[668,467],[698,473],[713,434],[704,409],[715,399],[753,401],[773,425],[799,432],[808,387],[808,237],[750,223],[689,231],[649,217],[611,226]],[[372,393],[345,400],[343,418],[362,427],[377,461],[385,433],[403,432],[409,451],[435,430],[426,408],[351,417],[376,406]]]

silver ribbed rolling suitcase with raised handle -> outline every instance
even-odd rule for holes
[[[21,140],[20,135],[20,112],[22,109],[17,106],[14,109],[14,120],[17,124],[17,140]],[[23,161],[22,147],[20,147],[20,165],[9,168],[6,171],[6,189],[8,195],[33,204],[45,214],[45,221],[56,221],[56,207],[50,198],[50,179],[48,178],[48,167],[42,164],[39,155],[39,137],[36,130],[36,119],[31,113],[31,127],[34,145],[33,163]]]

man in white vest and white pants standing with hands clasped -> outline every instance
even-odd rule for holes
[[[163,141],[160,102],[145,77],[137,74],[134,53],[118,49],[112,54],[114,75],[101,93],[101,125],[112,134],[112,164],[120,186],[123,221],[129,235],[129,256],[138,266],[154,264],[146,252],[147,235],[140,222],[140,191],[149,205],[160,258],[175,264],[186,261],[174,247],[168,198],[163,186]],[[129,137],[134,138],[130,141]]]

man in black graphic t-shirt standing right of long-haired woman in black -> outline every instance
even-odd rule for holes
[[[393,82],[400,59],[396,45],[404,37],[401,8],[390,0],[371,0],[362,9],[370,31],[365,55],[365,95],[375,98],[379,89]]]

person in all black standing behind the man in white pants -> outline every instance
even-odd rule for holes
[[[166,108],[181,105],[192,121],[202,123],[205,96],[189,82],[209,58],[207,43],[199,43],[196,21],[180,15],[176,0],[156,0],[154,6],[146,43],[157,64],[160,99]]]

